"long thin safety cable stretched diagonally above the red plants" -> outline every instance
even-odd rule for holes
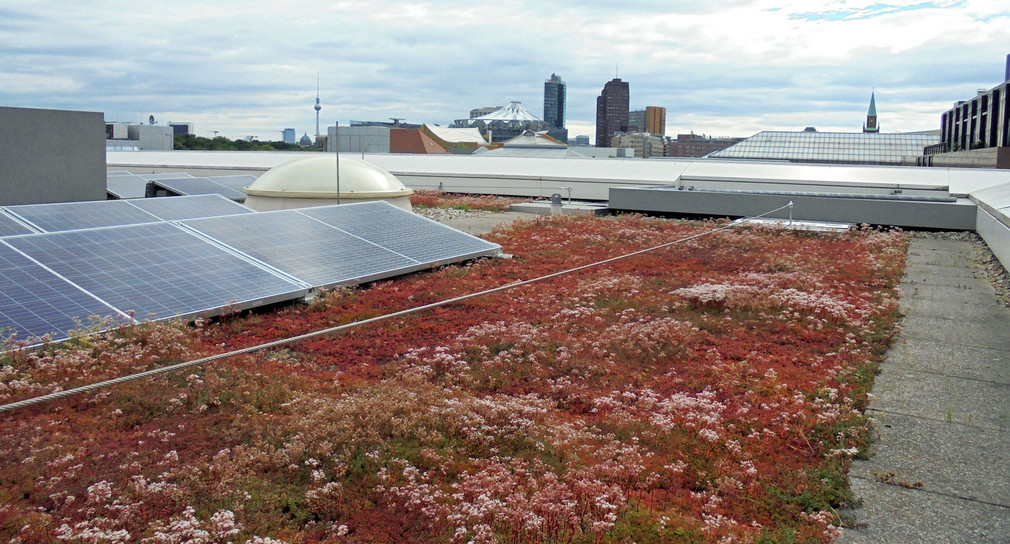
[[[773,214],[775,212],[778,212],[780,210],[785,210],[786,208],[790,208],[791,209],[792,207],[793,207],[793,203],[792,203],[792,201],[790,201],[789,204],[786,204],[785,206],[782,206],[780,208],[776,208],[774,210],[769,210],[769,211],[767,211],[767,212],[765,212],[765,213],[763,213],[761,215],[754,215],[754,216],[751,216],[751,217],[747,217],[747,218],[745,218],[742,221],[728,223],[728,224],[723,225],[721,227],[714,228],[714,229],[708,230],[706,232],[701,232],[699,234],[694,234],[694,235],[688,236],[686,238],[681,238],[681,239],[678,239],[678,240],[661,243],[659,245],[653,245],[651,247],[646,247],[645,249],[639,249],[637,251],[632,251],[630,253],[624,253],[624,254],[613,256],[613,257],[610,257],[610,258],[606,258],[606,259],[603,259],[603,260],[597,260],[597,261],[594,261],[594,262],[583,264],[581,266],[576,266],[574,268],[566,268],[564,270],[560,270],[560,271],[556,271],[556,273],[552,273],[552,274],[548,274],[546,276],[540,276],[540,277],[532,278],[532,279],[529,279],[529,280],[521,280],[521,281],[518,281],[518,282],[513,282],[511,284],[506,284],[504,286],[499,286],[499,287],[496,287],[496,288],[491,288],[491,289],[487,289],[487,290],[484,290],[484,291],[479,291],[477,293],[471,293],[469,295],[462,295],[460,297],[454,297],[452,299],[447,299],[447,300],[444,300],[444,301],[433,302],[433,303],[425,304],[425,305],[422,305],[422,306],[416,306],[414,308],[407,308],[406,310],[400,310],[399,312],[393,312],[391,314],[383,314],[381,316],[371,317],[371,318],[368,318],[368,319],[363,319],[361,321],[354,321],[354,322],[350,322],[350,323],[345,323],[343,325],[337,325],[335,327],[329,327],[329,328],[326,328],[326,329],[320,329],[320,330],[317,330],[317,331],[307,332],[305,334],[299,334],[297,336],[289,336],[287,338],[281,338],[280,340],[274,340],[272,342],[266,342],[266,343],[263,343],[263,344],[257,344],[257,345],[254,345],[254,346],[243,347],[243,348],[240,348],[240,349],[235,349],[235,350],[232,350],[232,351],[226,351],[224,353],[218,353],[216,355],[210,355],[210,356],[207,356],[207,357],[202,357],[202,358],[199,358],[199,359],[194,359],[194,360],[189,360],[189,361],[185,361],[185,362],[180,362],[180,363],[177,363],[177,364],[170,364],[168,366],[162,366],[162,367],[159,367],[159,368],[154,368],[154,369],[150,369],[150,370],[145,370],[143,372],[137,372],[137,373],[133,373],[133,374],[127,374],[127,375],[123,375],[123,376],[119,376],[119,377],[114,377],[112,379],[106,379],[104,382],[98,382],[98,383],[90,384],[90,385],[87,385],[87,386],[81,386],[79,388],[69,389],[69,390],[65,390],[65,391],[59,391],[59,392],[56,392],[56,393],[50,393],[48,395],[42,395],[40,397],[34,397],[34,398],[31,398],[31,399],[24,399],[23,401],[18,401],[16,403],[10,403],[10,404],[6,404],[6,405],[0,406],[0,413],[10,412],[10,411],[13,411],[13,410],[18,410],[18,409],[21,409],[21,408],[26,408],[26,407],[37,405],[37,404],[48,403],[48,402],[52,402],[52,401],[56,401],[56,400],[59,400],[59,399],[64,399],[64,398],[71,397],[71,396],[74,396],[74,395],[80,395],[82,393],[88,393],[90,391],[95,391],[95,390],[99,390],[99,389],[109,388],[109,387],[112,387],[112,386],[117,386],[119,384],[125,384],[127,382],[133,382],[133,380],[136,380],[136,379],[143,379],[145,377],[150,377],[153,375],[164,374],[164,373],[173,372],[173,371],[176,371],[176,370],[182,370],[183,368],[189,368],[190,366],[197,366],[197,365],[201,365],[201,364],[207,364],[207,363],[214,362],[214,361],[217,361],[217,360],[220,360],[220,359],[223,359],[223,358],[227,358],[227,357],[234,357],[236,355],[243,355],[245,353],[252,353],[252,352],[256,352],[256,351],[263,351],[263,350],[267,350],[267,349],[273,349],[275,347],[280,347],[280,346],[287,345],[287,344],[293,344],[293,343],[296,343],[296,342],[300,342],[302,340],[308,340],[309,338],[315,338],[317,336],[325,336],[325,335],[333,334],[335,332],[340,332],[340,331],[343,331],[343,330],[351,329],[351,328],[355,328],[355,327],[361,327],[363,325],[368,325],[370,323],[375,323],[375,322],[378,322],[378,321],[385,321],[387,319],[393,319],[393,318],[402,317],[402,316],[406,316],[406,315],[410,315],[410,314],[415,314],[415,313],[418,313],[418,312],[423,312],[425,310],[430,310],[432,308],[438,308],[440,306],[446,306],[446,305],[449,305],[449,304],[456,304],[458,302],[463,302],[463,301],[470,300],[470,299],[476,299],[478,297],[483,297],[485,295],[492,295],[494,293],[499,293],[499,292],[502,292],[502,291],[507,291],[507,290],[510,290],[510,289],[515,289],[515,288],[518,288],[518,287],[526,286],[526,285],[537,283],[537,282],[543,282],[543,281],[550,280],[550,279],[553,279],[553,278],[558,278],[558,277],[561,277],[561,276],[567,276],[567,275],[570,275],[570,274],[575,274],[577,271],[585,270],[585,269],[588,269],[588,268],[602,266],[604,264],[609,264],[609,263],[617,261],[617,260],[622,260],[622,259],[625,259],[625,258],[630,258],[630,257],[633,257],[633,256],[636,256],[636,255],[640,255],[640,254],[643,254],[643,253],[648,253],[650,251],[655,251],[655,250],[659,250],[659,249],[663,249],[665,247],[670,247],[672,245],[677,245],[679,243],[684,243],[684,242],[688,242],[688,241],[691,241],[691,240],[695,240],[695,239],[701,238],[703,236],[708,236],[709,234],[714,234],[716,232],[721,232],[723,230],[728,230],[728,229],[731,229],[731,228],[733,228],[735,226],[743,224],[743,223],[745,223],[748,220],[759,219],[759,218],[765,217],[765,216],[767,216],[769,214]]]

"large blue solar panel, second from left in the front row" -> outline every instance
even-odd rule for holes
[[[303,289],[172,223],[6,238],[122,311],[166,319],[298,298]]]

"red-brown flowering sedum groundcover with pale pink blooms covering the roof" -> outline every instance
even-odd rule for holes
[[[0,402],[716,227],[493,232],[512,259],[9,352]],[[826,542],[906,239],[738,227],[425,313],[0,415],[11,542]]]

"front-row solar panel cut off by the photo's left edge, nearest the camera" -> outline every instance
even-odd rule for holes
[[[112,315],[113,308],[0,242],[0,336],[64,340],[91,316]]]

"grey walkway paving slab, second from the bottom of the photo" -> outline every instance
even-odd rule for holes
[[[873,413],[880,435],[874,456],[853,476],[895,474],[922,489],[1010,508],[1010,434],[945,421]],[[1010,513],[1008,513],[1010,514]],[[1010,535],[1008,535],[1010,536]]]

